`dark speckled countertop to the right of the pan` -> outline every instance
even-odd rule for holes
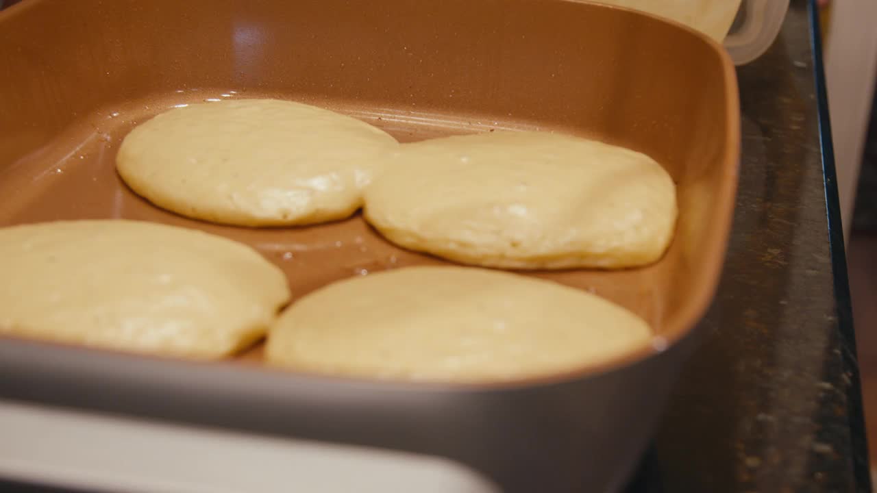
[[[810,19],[793,1],[770,51],[738,68],[743,153],[724,277],[631,491],[870,490]]]

